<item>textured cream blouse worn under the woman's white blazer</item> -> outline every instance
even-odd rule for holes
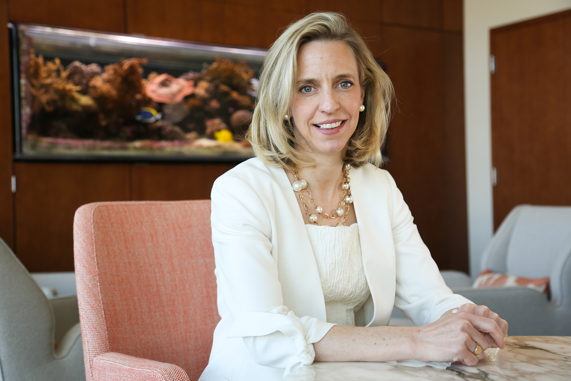
[[[359,226],[306,224],[323,287],[328,323],[355,327],[355,312],[371,294],[359,243]]]

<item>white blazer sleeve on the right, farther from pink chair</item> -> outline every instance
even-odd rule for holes
[[[452,293],[444,283],[395,180],[387,171],[384,172],[392,199],[389,210],[392,209],[391,228],[396,259],[395,307],[417,326],[423,326],[435,322],[449,309],[472,301]]]

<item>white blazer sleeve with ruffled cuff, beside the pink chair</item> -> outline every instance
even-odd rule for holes
[[[271,255],[276,227],[268,211],[275,210],[274,197],[260,197],[246,181],[226,174],[215,181],[211,199],[219,303],[222,294],[234,320],[227,337],[243,338],[256,363],[286,374],[311,364],[313,343],[335,324],[298,318],[283,305]]]

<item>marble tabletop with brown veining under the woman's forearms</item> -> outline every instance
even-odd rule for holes
[[[392,363],[313,363],[283,381],[571,380],[571,336],[508,336],[496,360],[475,367],[409,367]]]

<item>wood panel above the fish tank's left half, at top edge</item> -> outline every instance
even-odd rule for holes
[[[122,0],[9,0],[12,21],[124,33]]]

